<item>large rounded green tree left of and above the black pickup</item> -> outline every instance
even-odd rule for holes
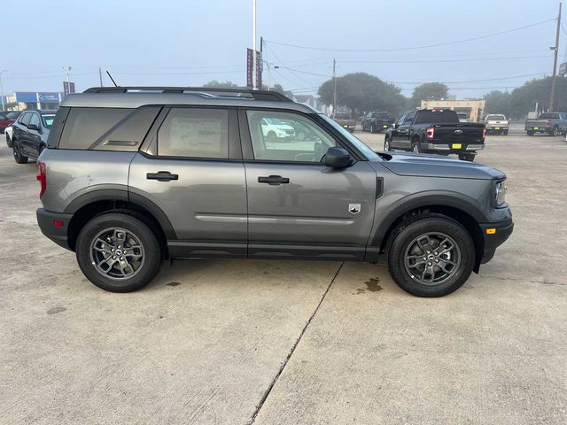
[[[322,83],[319,97],[323,104],[333,104],[334,81]],[[347,73],[337,77],[337,106],[345,106],[352,113],[388,111],[394,114],[406,107],[406,98],[400,88],[369,73]]]

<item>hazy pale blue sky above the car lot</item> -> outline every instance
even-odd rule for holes
[[[558,5],[257,0],[258,48],[262,36],[271,84],[297,94],[315,94],[336,58],[337,75],[371,73],[408,97],[416,85],[431,81],[446,83],[457,98],[482,97],[551,74]],[[4,14],[3,30],[12,45],[7,50],[2,43],[4,93],[62,91],[68,66],[77,91],[99,85],[99,66],[123,86],[201,86],[211,80],[244,86],[252,0],[16,1],[8,19]],[[562,28],[559,63],[566,47]],[[105,75],[104,84],[112,85]]]

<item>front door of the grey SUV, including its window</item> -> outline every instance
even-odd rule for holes
[[[248,256],[363,259],[374,220],[374,169],[365,161],[344,169],[324,166],[323,156],[337,142],[307,116],[242,113],[243,143],[251,151],[248,158],[245,153]],[[262,120],[283,130],[301,125],[309,136],[270,138]]]

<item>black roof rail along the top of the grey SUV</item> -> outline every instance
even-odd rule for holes
[[[255,100],[276,100],[280,102],[291,102],[289,97],[277,91],[252,90],[252,89],[221,89],[208,87],[91,87],[83,93],[127,93],[136,91],[155,91],[161,93],[185,93],[198,92],[210,93],[219,97],[248,97]]]

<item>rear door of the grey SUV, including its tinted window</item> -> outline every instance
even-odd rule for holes
[[[237,111],[165,108],[130,165],[130,197],[167,216],[174,258],[246,256],[245,167]]]

